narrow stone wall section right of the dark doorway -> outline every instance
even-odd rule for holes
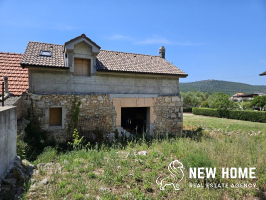
[[[154,124],[156,132],[168,132],[181,135],[183,127],[183,97],[158,96],[154,105],[154,114],[157,116]]]

